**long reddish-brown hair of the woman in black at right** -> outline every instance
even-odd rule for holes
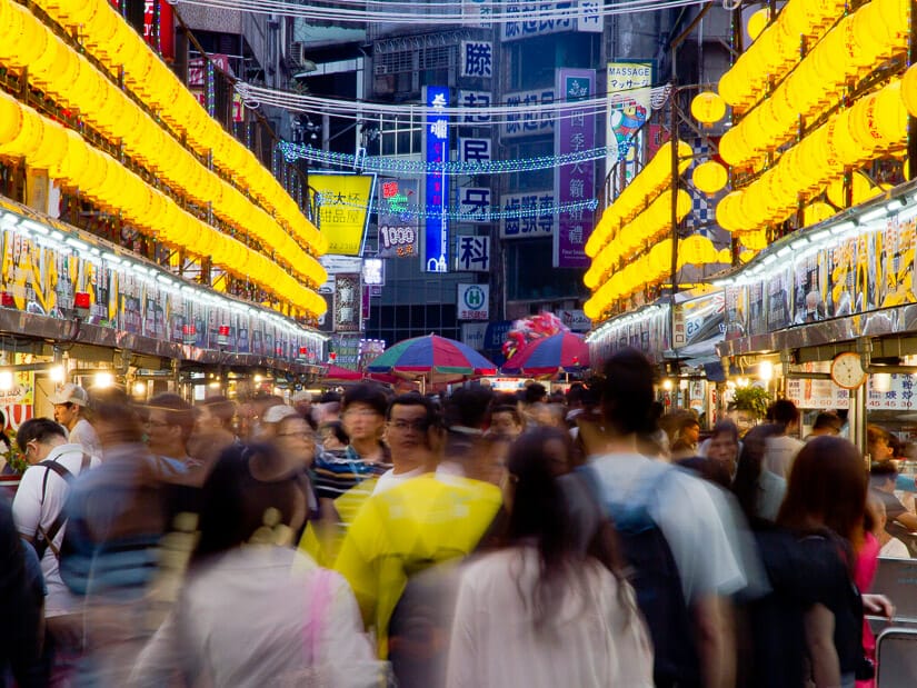
[[[793,462],[777,522],[798,532],[825,527],[856,548],[863,537],[866,490],[859,450],[839,437],[816,437]]]

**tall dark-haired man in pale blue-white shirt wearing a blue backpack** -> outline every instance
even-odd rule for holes
[[[611,519],[655,649],[658,687],[735,685],[730,596],[748,578],[730,507],[714,486],[640,453],[655,430],[654,369],[637,350],[605,366],[601,419],[578,419],[589,460],[561,478],[579,546]]]

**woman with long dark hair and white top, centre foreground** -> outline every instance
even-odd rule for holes
[[[510,450],[505,545],[461,571],[449,688],[654,685],[632,590],[577,549],[557,457],[527,441],[555,431],[527,432]]]

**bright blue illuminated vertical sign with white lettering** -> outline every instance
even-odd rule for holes
[[[427,196],[425,199],[427,218],[423,242],[423,270],[427,272],[449,271],[449,178],[446,163],[449,161],[449,88],[428,86],[426,122],[426,159],[428,166],[442,166],[427,172]]]

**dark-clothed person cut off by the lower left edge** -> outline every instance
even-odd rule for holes
[[[12,510],[0,497],[0,684],[20,688],[48,685],[41,660],[42,590],[30,580],[23,544],[17,534]]]

